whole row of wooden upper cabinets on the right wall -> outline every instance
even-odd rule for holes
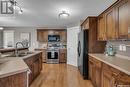
[[[124,39],[130,39],[130,0],[118,0],[98,16],[99,41]]]

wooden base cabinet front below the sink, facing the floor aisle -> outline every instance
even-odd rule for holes
[[[28,65],[31,73],[29,74],[29,84],[40,74],[42,70],[42,54],[31,56],[24,59],[25,63]]]

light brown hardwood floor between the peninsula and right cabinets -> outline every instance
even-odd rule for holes
[[[43,64],[41,74],[30,87],[93,87],[78,69],[66,64]]]

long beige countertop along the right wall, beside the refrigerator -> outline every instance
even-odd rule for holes
[[[130,60],[126,58],[122,58],[119,56],[105,56],[104,54],[89,54],[89,56],[92,56],[96,58],[97,60],[100,60],[128,75],[130,75]]]

